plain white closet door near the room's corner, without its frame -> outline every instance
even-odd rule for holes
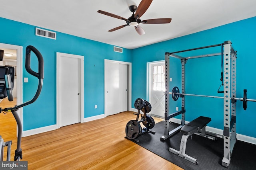
[[[105,60],[105,114],[128,110],[128,65]]]

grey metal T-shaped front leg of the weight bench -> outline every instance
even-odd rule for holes
[[[181,141],[180,141],[180,150],[173,149],[172,147],[169,148],[169,151],[198,165],[198,162],[195,158],[188,156],[186,152],[186,145],[189,135],[182,135]]]

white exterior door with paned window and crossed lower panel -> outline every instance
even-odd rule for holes
[[[165,65],[164,62],[150,63],[149,102],[151,114],[164,117]]]

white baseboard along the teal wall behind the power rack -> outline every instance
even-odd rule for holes
[[[176,119],[176,118],[171,118],[170,121],[174,122],[174,123],[178,123],[178,124],[180,124],[180,122],[181,122],[180,119]],[[186,121],[186,124],[187,123],[189,123],[189,121]],[[221,130],[221,129],[206,126],[206,131],[223,136],[223,130]],[[241,134],[236,133],[236,139],[238,141],[243,141],[243,142],[247,142],[247,143],[251,143],[251,144],[256,145],[256,138],[254,138],[254,137],[250,137],[250,136],[241,135]]]

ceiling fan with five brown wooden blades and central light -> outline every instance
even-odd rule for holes
[[[146,12],[146,10],[148,10],[148,7],[150,6],[152,1],[153,0],[142,0],[138,7],[136,5],[129,6],[129,9],[133,14],[128,19],[117,16],[115,14],[111,14],[109,12],[102,11],[102,10],[98,10],[98,13],[126,21],[125,25],[121,25],[119,27],[110,29],[110,30],[108,30],[109,32],[116,31],[118,29],[121,29],[123,27],[130,25],[130,26],[135,27],[138,34],[143,35],[143,34],[145,34],[145,31],[142,29],[142,27],[140,27],[140,25],[139,25],[140,23],[147,23],[147,24],[170,23],[172,20],[172,18],[157,18],[157,19],[141,21],[140,17]]]

